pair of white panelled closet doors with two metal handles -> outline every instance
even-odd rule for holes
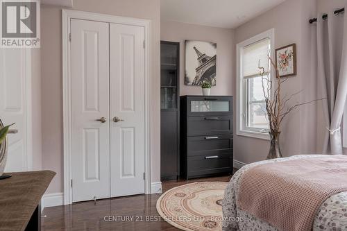
[[[144,194],[144,28],[71,19],[73,201]]]

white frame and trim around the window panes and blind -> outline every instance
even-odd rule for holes
[[[264,40],[266,38],[270,39],[270,57],[273,59],[273,53],[274,53],[274,37],[275,37],[275,30],[274,28],[271,28],[268,31],[265,31],[263,33],[260,33],[258,35],[255,35],[254,37],[249,38],[248,40],[245,40],[244,42],[240,42],[237,44],[237,85],[236,85],[236,91],[237,91],[237,113],[236,113],[236,135],[246,136],[246,137],[253,137],[258,139],[270,139],[269,132],[264,131],[263,128],[253,128],[248,126],[248,115],[247,108],[248,108],[248,97],[249,97],[249,90],[244,90],[248,88],[247,81],[244,80],[243,76],[243,55],[244,55],[244,47],[249,46],[251,44],[254,44],[255,42],[259,42],[260,40]],[[270,70],[271,73],[271,70]]]

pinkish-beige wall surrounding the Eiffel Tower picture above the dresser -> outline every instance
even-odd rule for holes
[[[217,43],[217,85],[213,95],[233,95],[235,65],[234,30],[211,26],[198,26],[180,22],[161,22],[160,40],[180,42],[180,95],[201,95],[201,87],[185,85],[185,40]]]

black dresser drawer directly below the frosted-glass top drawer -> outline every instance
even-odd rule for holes
[[[232,134],[232,117],[188,117],[188,136]]]

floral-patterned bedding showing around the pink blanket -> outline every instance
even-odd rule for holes
[[[270,223],[262,221],[252,214],[242,211],[237,205],[239,186],[242,176],[251,168],[270,162],[284,162],[287,160],[324,158],[326,155],[296,155],[276,160],[264,160],[248,164],[239,169],[232,176],[223,198],[223,230],[239,231],[278,231]],[[322,203],[314,216],[312,230],[347,230],[347,192],[330,196]]]

